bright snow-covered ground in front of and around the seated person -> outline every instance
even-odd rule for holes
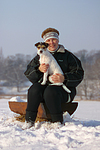
[[[3,150],[100,150],[100,102],[80,101],[65,125],[48,122],[22,130],[7,99],[0,99],[0,149]]]

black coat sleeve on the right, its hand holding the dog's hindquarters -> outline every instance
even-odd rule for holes
[[[72,53],[68,55],[68,71],[64,73],[64,83],[68,87],[76,87],[83,80],[84,70],[81,61]]]

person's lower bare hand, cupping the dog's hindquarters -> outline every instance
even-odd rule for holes
[[[55,75],[52,75],[51,78],[54,83],[63,83],[65,79],[64,75],[60,73],[56,73]]]

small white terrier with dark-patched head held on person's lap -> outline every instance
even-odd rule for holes
[[[51,75],[54,75],[56,73],[63,75],[63,72],[62,72],[60,66],[58,65],[56,59],[47,50],[48,45],[49,44],[45,43],[45,42],[38,42],[35,44],[35,46],[37,47],[37,50],[38,50],[37,54],[40,56],[40,59],[39,59],[40,64],[42,64],[42,63],[49,64],[47,72],[45,72],[43,75],[43,82],[41,84],[45,85],[46,81],[47,81],[47,77],[48,77],[48,75],[50,75],[49,81],[52,83],[51,85],[62,86],[65,91],[67,91],[68,93],[71,93],[71,91],[63,83],[54,83],[52,81]]]

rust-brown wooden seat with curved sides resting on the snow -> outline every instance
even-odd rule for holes
[[[68,112],[70,115],[72,115],[75,110],[77,109],[78,103],[72,102],[72,103],[63,103],[62,104],[62,110],[63,112]],[[27,108],[27,102],[13,102],[9,101],[9,108],[11,111],[20,114],[25,115],[26,114],[26,108]],[[51,116],[49,113],[49,110],[45,103],[40,103],[38,108],[37,117],[41,119],[47,119],[51,120]]]

